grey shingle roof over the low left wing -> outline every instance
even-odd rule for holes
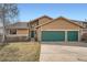
[[[7,29],[29,29],[28,22],[17,22],[6,26]]]

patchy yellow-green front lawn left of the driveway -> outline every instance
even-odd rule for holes
[[[0,50],[0,62],[37,62],[39,43],[10,43]]]

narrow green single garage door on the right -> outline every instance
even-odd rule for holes
[[[68,31],[67,41],[78,41],[78,31]]]

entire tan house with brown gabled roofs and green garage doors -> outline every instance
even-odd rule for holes
[[[7,26],[8,35],[29,36],[42,42],[78,42],[81,39],[84,21],[64,17],[56,19],[43,15],[29,22],[17,22]]]

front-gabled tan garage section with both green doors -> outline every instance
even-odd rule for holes
[[[83,25],[64,17],[36,26],[37,39],[42,42],[77,42],[80,41]]]

